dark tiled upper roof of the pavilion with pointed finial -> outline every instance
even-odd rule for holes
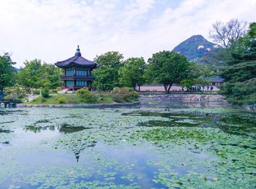
[[[55,65],[58,66],[59,68],[71,66],[72,64],[75,64],[75,66],[86,66],[91,68],[98,67],[98,64],[95,63],[94,61],[89,61],[86,58],[83,58],[83,56],[80,53],[79,46],[74,56],[72,56],[71,58],[68,58],[65,61],[58,61],[55,63]]]

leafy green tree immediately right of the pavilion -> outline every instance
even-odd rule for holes
[[[94,61],[99,64],[99,68],[94,69],[94,87],[97,90],[111,90],[118,86],[118,69],[122,65],[123,55],[118,52],[108,52],[97,55]]]

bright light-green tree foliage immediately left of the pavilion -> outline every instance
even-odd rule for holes
[[[52,64],[40,60],[26,61],[25,67],[18,72],[18,84],[28,91],[31,88],[56,88],[61,85],[61,72]]]

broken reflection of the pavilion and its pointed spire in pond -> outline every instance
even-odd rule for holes
[[[35,134],[40,133],[42,131],[59,131],[60,133],[67,134],[67,133],[82,131],[84,129],[88,129],[88,128],[72,127],[72,126],[67,127],[67,125],[65,125],[65,126],[63,126],[63,125],[61,125],[61,126],[26,126],[24,128],[25,131],[31,131]],[[80,143],[80,144],[78,144],[78,143]],[[96,141],[84,142],[82,139],[77,139],[77,140],[72,140],[71,142],[69,142],[66,145],[69,145],[72,147],[71,150],[75,154],[75,159],[78,162],[79,158],[80,158],[80,152],[85,150],[86,148],[94,147],[96,144],[97,144]],[[64,147],[66,145],[64,145]]]

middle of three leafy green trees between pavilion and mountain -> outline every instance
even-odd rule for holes
[[[118,69],[119,83],[125,87],[143,85],[146,63],[143,58],[128,58]]]

